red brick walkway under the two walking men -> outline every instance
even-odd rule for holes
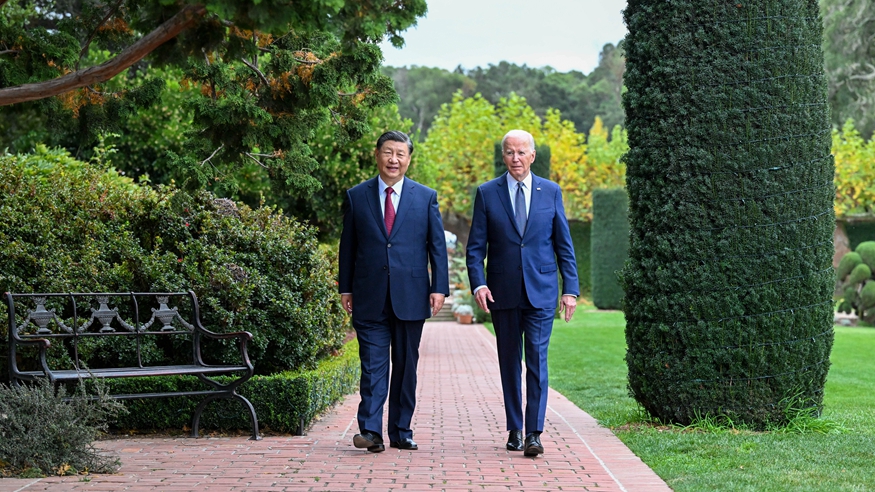
[[[0,479],[0,492],[670,490],[609,430],[553,390],[541,436],[545,454],[533,459],[505,450],[495,339],[481,325],[427,323],[419,374],[413,419],[419,451],[355,449],[353,395],[306,436],[103,441],[101,447],[121,457],[116,475]]]

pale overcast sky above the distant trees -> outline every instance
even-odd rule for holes
[[[428,14],[382,44],[385,64],[452,70],[501,61],[589,73],[606,43],[626,35],[625,0],[427,0]]]

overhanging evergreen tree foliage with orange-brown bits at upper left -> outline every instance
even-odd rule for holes
[[[5,3],[5,5],[4,5]],[[400,46],[424,0],[30,0],[0,8],[0,111],[52,114],[80,143],[155,105],[184,71],[194,125],[170,153],[196,182],[221,182],[257,164],[290,191],[318,183],[308,142],[320,124],[336,138],[368,131],[369,110],[397,99],[377,43]],[[185,90],[189,89],[189,90]],[[169,122],[168,122],[169,123]]]

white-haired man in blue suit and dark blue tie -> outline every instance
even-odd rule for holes
[[[474,299],[492,313],[509,436],[507,449],[526,456],[544,452],[547,347],[562,274],[560,312],[571,320],[580,293],[574,246],[556,183],[531,173],[535,140],[512,130],[501,141],[507,172],[477,188],[468,236],[468,277]],[[484,274],[484,260],[488,260]],[[487,276],[488,275],[488,276]],[[522,340],[526,354],[523,442]]]

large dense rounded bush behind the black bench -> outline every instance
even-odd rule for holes
[[[0,156],[0,212],[0,291],[192,289],[208,329],[253,334],[259,374],[311,368],[343,340],[331,253],[312,228],[270,208],[141,187],[41,147]],[[101,343],[94,357],[117,355]],[[234,342],[209,355],[239,361]]]

